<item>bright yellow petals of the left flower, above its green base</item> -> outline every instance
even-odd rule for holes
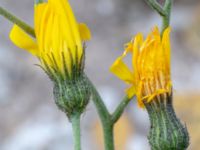
[[[10,39],[20,48],[37,56],[41,66],[51,75],[73,76],[73,69],[82,65],[83,41],[91,35],[87,26],[78,23],[68,0],[48,0],[35,5],[32,39],[17,25],[11,30]]]

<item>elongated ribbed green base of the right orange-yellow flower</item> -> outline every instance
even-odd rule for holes
[[[149,143],[152,150],[186,150],[189,145],[187,128],[176,117],[172,95],[161,94],[145,103],[151,128]]]

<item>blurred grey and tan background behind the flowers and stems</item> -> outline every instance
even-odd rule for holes
[[[145,35],[160,17],[144,0],[71,0],[79,22],[93,38],[87,43],[86,73],[110,111],[126,85],[109,72],[123,45]],[[33,0],[1,0],[0,6],[33,25]],[[187,124],[190,150],[200,147],[200,1],[175,0],[172,11],[172,79],[175,109]],[[0,17],[0,150],[73,150],[71,124],[54,104],[52,84],[38,60],[9,40],[12,24]],[[116,150],[150,150],[145,110],[132,101],[115,127]],[[101,126],[92,101],[82,117],[83,150],[103,150]]]

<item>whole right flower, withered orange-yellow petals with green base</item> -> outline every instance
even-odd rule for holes
[[[111,66],[111,72],[125,81],[129,97],[136,95],[151,121],[149,142],[152,149],[186,149],[187,129],[181,124],[172,105],[170,75],[170,28],[161,36],[155,27],[146,39],[141,33],[125,45],[125,51]],[[132,55],[132,69],[123,62]]]

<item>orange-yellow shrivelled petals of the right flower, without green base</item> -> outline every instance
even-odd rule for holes
[[[128,97],[136,95],[141,107],[144,102],[171,92],[169,33],[170,28],[167,28],[161,37],[155,27],[146,40],[141,33],[137,34],[111,66],[111,72],[130,85],[126,90]],[[123,62],[128,53],[132,54],[133,69]]]

